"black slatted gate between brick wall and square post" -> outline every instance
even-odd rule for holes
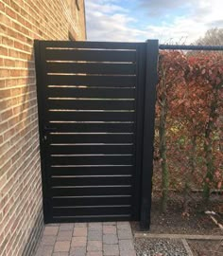
[[[139,220],[150,206],[146,46],[35,42],[45,222]]]

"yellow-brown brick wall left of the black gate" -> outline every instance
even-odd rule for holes
[[[85,40],[84,4],[0,0],[0,21],[0,255],[30,256],[43,228],[33,39]]]

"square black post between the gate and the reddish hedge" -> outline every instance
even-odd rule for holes
[[[144,141],[142,170],[142,205],[141,229],[149,229],[152,174],[153,174],[153,141],[156,103],[156,84],[158,82],[157,63],[159,55],[158,40],[146,41],[146,87],[144,108]]]

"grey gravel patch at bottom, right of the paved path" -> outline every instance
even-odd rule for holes
[[[180,240],[136,238],[137,256],[187,256]]]

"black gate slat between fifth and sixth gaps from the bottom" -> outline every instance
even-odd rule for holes
[[[127,175],[133,174],[133,166],[78,166],[78,167],[50,167],[51,175]]]

